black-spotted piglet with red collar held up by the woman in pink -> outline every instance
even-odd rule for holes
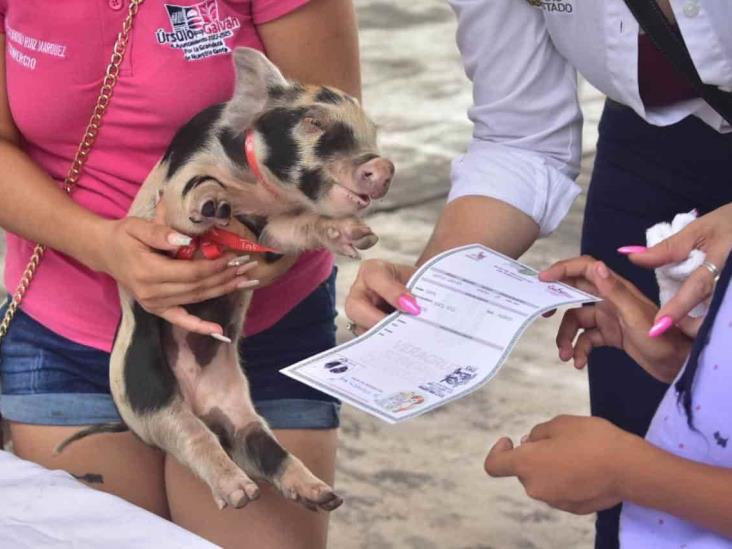
[[[190,236],[235,218],[283,253],[325,247],[357,257],[377,239],[356,214],[384,196],[394,173],[378,154],[374,124],[354,98],[287,81],[255,50],[239,48],[233,59],[234,96],[177,133],[129,215],[152,219],[162,201],[165,222]],[[237,356],[250,296],[186,306],[224,327],[229,344],[151,315],[120,288],[114,401],[142,440],[210,486],[219,507],[256,499],[263,480],[309,508],[334,509],[341,498],[277,442],[252,405]],[[114,430],[92,427],[66,443]]]

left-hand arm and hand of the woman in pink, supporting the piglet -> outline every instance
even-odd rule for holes
[[[91,108],[89,105],[90,112]],[[179,305],[224,295],[246,282],[236,274],[237,267],[227,266],[231,254],[216,261],[169,259],[156,250],[176,250],[186,244],[185,237],[169,227],[142,219],[99,217],[70,200],[21,150],[19,132],[8,105],[3,34],[0,166],[0,226],[4,229],[111,275],[145,309],[169,322],[202,334],[223,333],[220,326],[201,321]],[[8,290],[12,292],[14,288]]]

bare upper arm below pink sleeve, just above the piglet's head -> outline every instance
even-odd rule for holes
[[[351,0],[311,0],[259,26],[264,49],[282,73],[361,97],[356,13]]]

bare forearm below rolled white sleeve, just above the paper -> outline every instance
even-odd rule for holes
[[[438,253],[480,243],[519,257],[539,236],[539,226],[521,210],[487,196],[464,196],[447,204],[418,264]]]

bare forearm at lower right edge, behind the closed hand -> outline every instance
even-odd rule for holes
[[[732,538],[732,469],[683,459],[641,439],[622,462],[623,501]]]

